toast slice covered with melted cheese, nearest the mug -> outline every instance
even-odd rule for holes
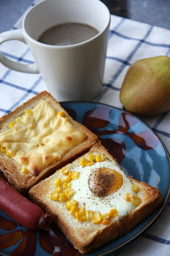
[[[15,189],[27,193],[98,141],[43,91],[0,118],[0,169]]]

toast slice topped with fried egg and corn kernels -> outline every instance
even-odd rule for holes
[[[82,254],[125,235],[162,204],[157,188],[127,176],[100,143],[29,195]]]

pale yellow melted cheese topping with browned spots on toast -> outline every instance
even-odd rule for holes
[[[11,157],[33,175],[60,160],[87,136],[67,118],[57,114],[47,102],[41,101],[30,113],[0,134],[0,145]]]

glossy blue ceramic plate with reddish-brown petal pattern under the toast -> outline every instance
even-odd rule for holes
[[[135,116],[94,102],[62,102],[78,122],[97,134],[127,175],[157,187],[163,198],[161,208],[134,227],[127,235],[105,244],[88,256],[106,256],[140,236],[161,215],[170,198],[170,156],[159,137]],[[2,175],[2,173],[1,173]],[[0,212],[0,253],[12,256],[80,256],[62,232],[31,231]]]

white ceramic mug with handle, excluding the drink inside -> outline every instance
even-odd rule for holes
[[[24,16],[22,29],[0,34],[0,44],[19,40],[28,44],[34,64],[22,64],[0,53],[6,67],[40,73],[58,101],[92,100],[102,88],[111,15],[99,0],[43,0]],[[79,44],[54,46],[37,41],[45,30],[62,23],[85,23],[99,33]]]

